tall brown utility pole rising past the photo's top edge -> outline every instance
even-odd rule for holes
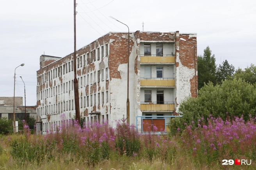
[[[80,125],[80,109],[79,109],[79,93],[78,93],[78,81],[76,78],[76,0],[74,0],[74,92],[75,92],[75,110],[76,110],[76,121]],[[78,63],[79,64],[79,63]]]

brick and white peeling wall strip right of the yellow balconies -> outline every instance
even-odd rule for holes
[[[187,41],[182,41],[184,38]],[[178,113],[179,104],[188,96],[196,97],[197,89],[197,54],[196,34],[175,34],[175,65],[176,65],[176,113]],[[190,43],[189,43],[190,42]],[[195,47],[191,44],[195,44]],[[196,71],[196,81],[195,81]]]

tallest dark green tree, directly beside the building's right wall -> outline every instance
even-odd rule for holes
[[[197,69],[198,69],[198,89],[204,86],[204,83],[213,82],[216,84],[216,64],[215,56],[212,55],[212,50],[207,46],[204,49],[204,55],[197,57]]]

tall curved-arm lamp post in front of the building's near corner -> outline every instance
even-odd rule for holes
[[[110,18],[118,21],[116,18],[109,16]],[[122,23],[121,21],[118,21],[119,23]],[[124,24],[124,23],[122,23]],[[125,26],[127,26],[126,24],[124,24]],[[130,125],[130,101],[129,101],[129,56],[130,56],[130,30],[129,27],[128,28],[128,47],[127,47],[127,101],[126,101],[126,119],[127,119],[127,123],[128,125]]]

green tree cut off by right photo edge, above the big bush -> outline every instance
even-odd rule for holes
[[[245,68],[244,70],[238,68],[234,74],[234,78],[241,78],[245,82],[254,84],[256,83],[256,66],[251,64],[250,67]]]

